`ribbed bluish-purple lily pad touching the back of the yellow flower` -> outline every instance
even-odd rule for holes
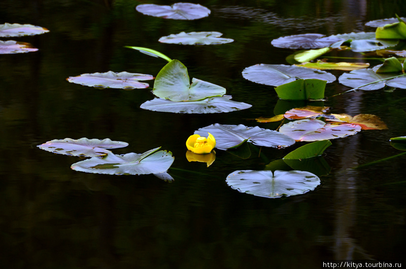
[[[216,139],[216,148],[226,150],[241,146],[244,142],[250,142],[257,146],[284,148],[293,145],[295,141],[288,136],[274,130],[263,129],[258,126],[247,127],[240,125],[212,124],[199,128],[194,133],[207,136],[210,132]]]

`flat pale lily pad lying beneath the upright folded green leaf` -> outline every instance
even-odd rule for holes
[[[141,105],[142,109],[172,113],[221,113],[250,108],[251,105],[230,100],[231,96],[223,95],[198,101],[175,102],[168,99],[154,98]]]

